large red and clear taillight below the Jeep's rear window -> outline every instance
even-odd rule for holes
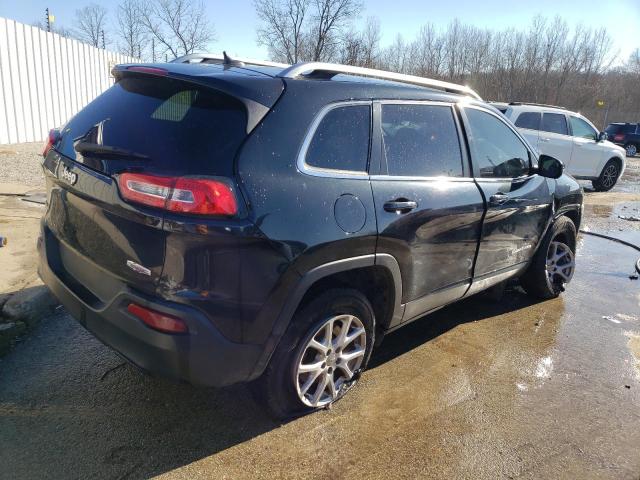
[[[197,215],[238,213],[233,190],[220,180],[123,173],[118,185],[125,200],[149,207]]]

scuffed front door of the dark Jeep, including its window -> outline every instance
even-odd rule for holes
[[[463,108],[476,182],[487,202],[474,269],[474,288],[526,265],[551,212],[547,179],[530,175],[525,142],[498,115]]]

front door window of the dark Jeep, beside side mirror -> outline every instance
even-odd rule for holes
[[[529,172],[529,151],[513,130],[494,115],[465,109],[473,162],[480,176],[516,178]]]

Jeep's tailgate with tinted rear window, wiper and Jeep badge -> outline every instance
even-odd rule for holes
[[[231,176],[246,124],[244,106],[213,89],[122,78],[64,127],[45,160],[53,270],[101,301],[122,280],[153,291],[165,257],[163,213],[123,201],[118,176]]]

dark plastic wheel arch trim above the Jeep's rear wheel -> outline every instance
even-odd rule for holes
[[[249,380],[262,374],[298,308],[322,291],[336,287],[356,288],[367,297],[376,315],[378,338],[382,338],[380,333],[385,326],[402,318],[402,277],[393,256],[362,255],[317,266],[302,276],[289,295]]]

